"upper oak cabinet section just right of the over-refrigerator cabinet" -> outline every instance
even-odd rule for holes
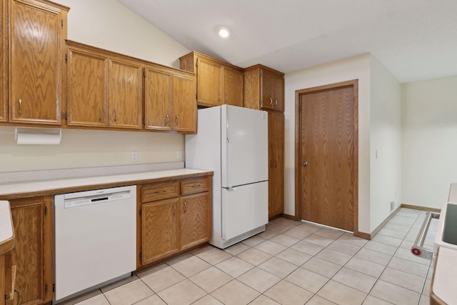
[[[256,65],[244,70],[244,106],[284,111],[284,74]]]

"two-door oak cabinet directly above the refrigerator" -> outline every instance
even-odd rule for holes
[[[243,69],[195,51],[179,60],[181,69],[196,74],[199,106],[242,106]]]

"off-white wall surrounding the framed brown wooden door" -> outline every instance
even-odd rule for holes
[[[285,214],[295,215],[295,91],[358,79],[358,230],[370,233],[370,64],[362,54],[286,74]]]

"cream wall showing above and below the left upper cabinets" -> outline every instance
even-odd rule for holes
[[[56,2],[71,8],[71,40],[175,67],[189,52],[117,1]],[[176,158],[176,151],[184,151],[181,134],[64,130],[62,137],[58,146],[19,146],[14,129],[0,127],[0,172],[184,161]],[[138,161],[131,161],[131,151],[138,152]]]

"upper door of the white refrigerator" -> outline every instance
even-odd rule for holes
[[[268,180],[267,112],[224,105],[221,123],[222,186]]]

